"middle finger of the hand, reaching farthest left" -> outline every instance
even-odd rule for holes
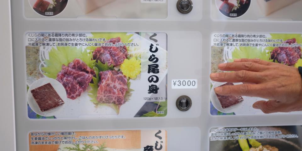
[[[210,78],[217,82],[244,82],[244,83],[260,83],[263,81],[260,73],[252,71],[236,71],[211,73]]]

